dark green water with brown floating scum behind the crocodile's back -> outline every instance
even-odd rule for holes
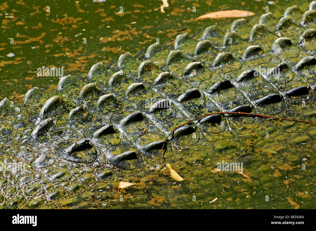
[[[160,0],[114,1],[6,1],[1,3],[0,99],[22,99],[28,89],[58,84],[58,77],[38,77],[37,68],[63,67],[64,75],[89,71],[99,61],[108,64],[126,51],[136,55],[156,42],[172,42],[181,32],[227,25],[226,20],[195,19],[212,11],[243,9],[259,16],[269,6],[278,9],[295,1],[184,1],[169,0],[165,13]],[[50,12],[47,7],[50,7]],[[119,14],[120,7],[123,13]],[[196,7],[196,12],[193,12]],[[13,44],[10,43],[13,38]],[[83,43],[86,38],[87,43]],[[103,38],[103,39],[102,39]],[[9,53],[14,56],[8,57]]]

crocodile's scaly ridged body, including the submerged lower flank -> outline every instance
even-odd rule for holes
[[[313,1],[208,26],[2,99],[0,208],[313,208],[312,124],[215,114],[165,139],[206,113],[316,121],[315,21]]]

